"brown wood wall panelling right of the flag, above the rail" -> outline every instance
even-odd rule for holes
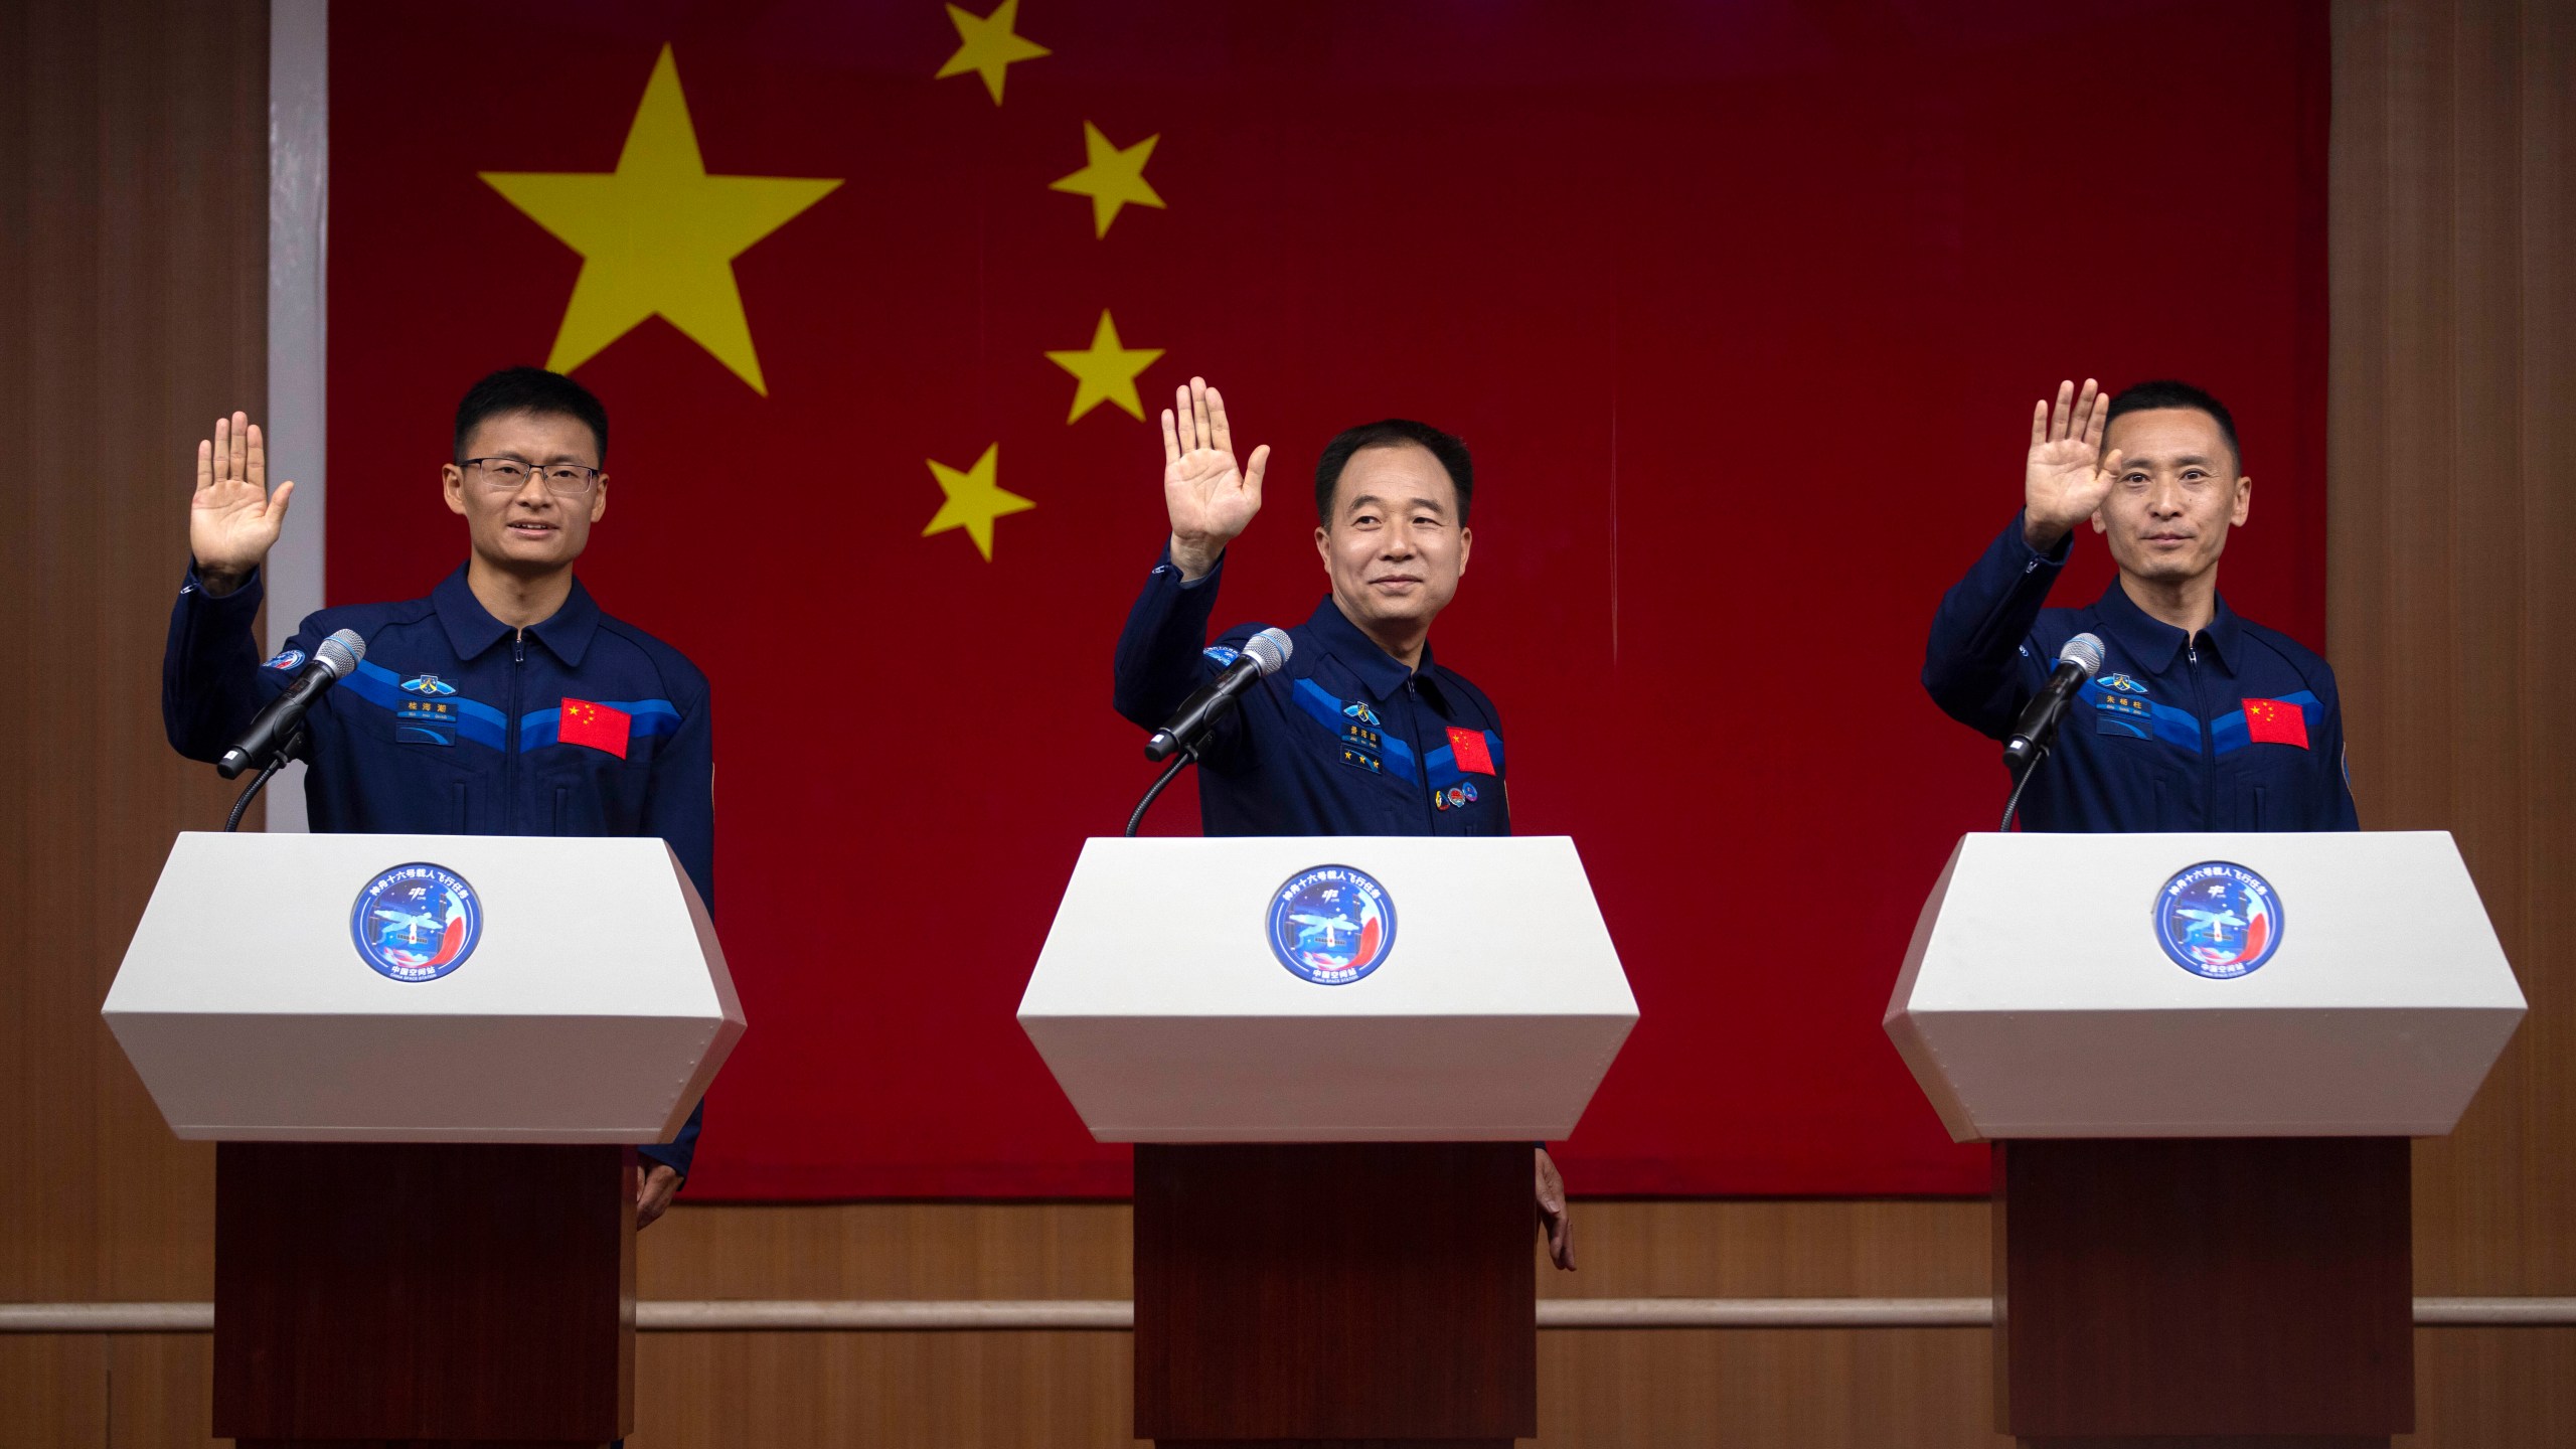
[[[2576,15],[2336,8],[2331,655],[2375,830],[2452,830],[2532,1013],[2416,1152],[2416,1292],[2576,1292]],[[2568,1364],[2576,1374],[2576,1361]]]

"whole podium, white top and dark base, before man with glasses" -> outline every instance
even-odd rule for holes
[[[631,1428],[631,1145],[744,1029],[662,841],[180,835],[103,1016],[219,1142],[216,1436]]]

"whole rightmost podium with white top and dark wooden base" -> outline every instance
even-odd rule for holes
[[[1996,1428],[2411,1431],[2409,1137],[2522,1011],[2447,833],[1963,838],[1886,1031],[1996,1142]]]

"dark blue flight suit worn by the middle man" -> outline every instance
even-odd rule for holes
[[[1115,704],[1157,730],[1260,624],[1208,645],[1224,557],[1182,583],[1170,547],[1118,634]],[[1466,676],[1409,670],[1327,596],[1288,663],[1236,699],[1200,750],[1208,835],[1510,835],[1502,714]]]

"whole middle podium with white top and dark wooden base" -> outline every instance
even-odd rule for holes
[[[1571,841],[1090,841],[1020,1026],[1139,1145],[1139,1436],[1538,1431],[1530,1142],[1636,1026]]]

